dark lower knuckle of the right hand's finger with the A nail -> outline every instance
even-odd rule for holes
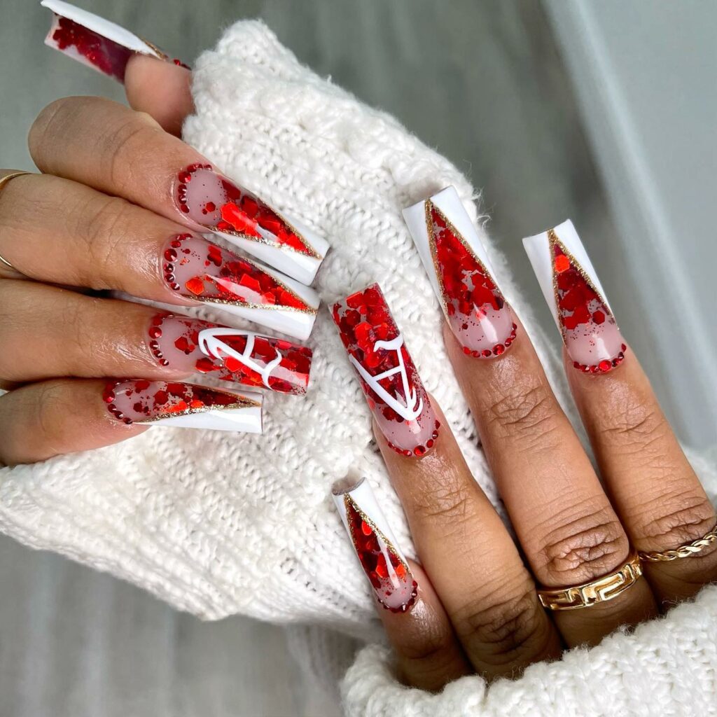
[[[542,647],[546,621],[529,579],[511,593],[505,594],[503,587],[500,591],[472,600],[454,622],[462,642],[480,645],[488,662],[518,663]]]

